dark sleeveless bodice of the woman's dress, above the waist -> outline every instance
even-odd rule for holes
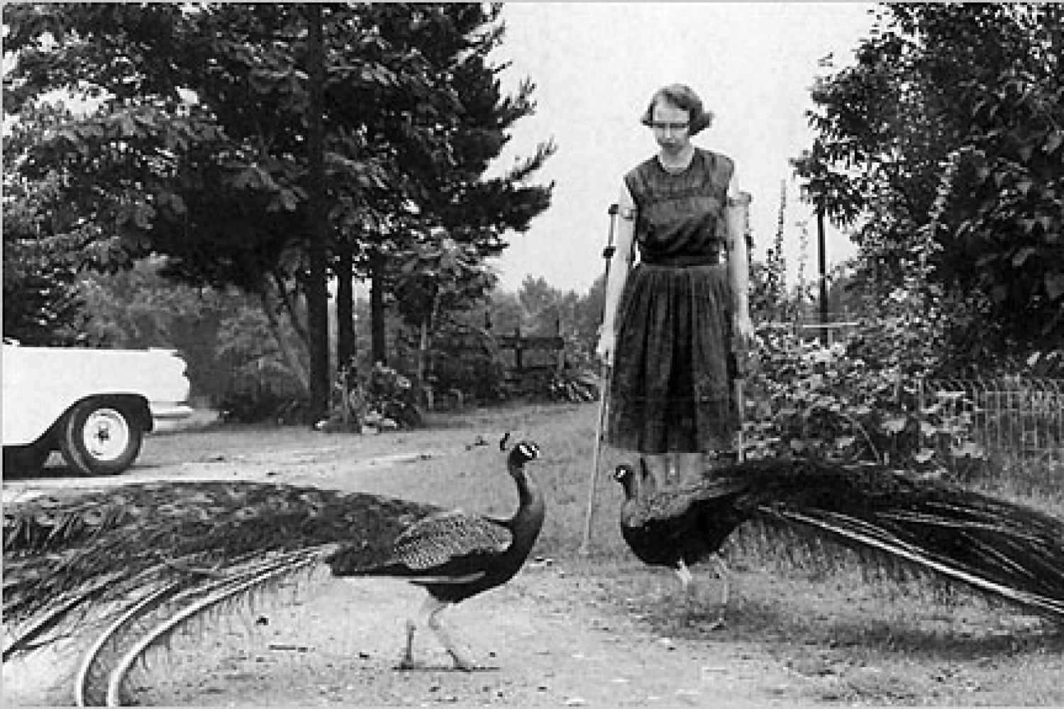
[[[651,157],[626,174],[641,259],[665,266],[715,261],[733,171],[730,158],[699,148],[683,172],[670,173]]]

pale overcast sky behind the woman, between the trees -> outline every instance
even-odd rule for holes
[[[542,181],[553,180],[553,204],[496,261],[500,285],[516,290],[527,275],[556,288],[584,291],[602,272],[606,209],[621,175],[656,146],[638,117],[653,91],[685,83],[716,114],[697,146],[730,155],[753,195],[754,256],[774,238],[781,181],[788,208],[785,235],[792,271],[799,254],[799,220],[809,223],[805,272],[815,275],[816,226],[798,203],[788,158],[812,141],[804,112],[809,87],[834,66],[852,62],[872,17],[867,3],[508,3],[506,35],[496,61],[514,87],[536,84],[536,115],[519,121],[498,167],[528,155],[536,142],[559,146]],[[829,231],[828,260],[853,253],[845,236]],[[792,273],[793,275],[793,273]]]

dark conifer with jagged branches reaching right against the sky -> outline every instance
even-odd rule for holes
[[[434,301],[419,299],[417,291],[405,288],[418,264],[425,264],[427,243],[436,244],[428,247],[430,252],[463,249],[462,263],[469,278],[462,290],[466,299],[482,298],[494,285],[483,259],[505,248],[502,237],[508,231],[527,230],[531,219],[550,203],[551,186],[529,182],[554,152],[549,141],[502,175],[485,176],[509,141],[509,130],[535,108],[532,83],[523,82],[514,96],[504,95],[498,79],[504,66],[489,61],[504,36],[498,22],[501,5],[416,7],[419,24],[410,41],[418,47],[431,71],[449,78],[456,107],[448,120],[437,117],[433,134],[445,139],[447,159],[433,163],[434,171],[420,173],[402,218],[378,223],[377,231],[385,238],[375,240],[366,251],[364,263],[373,280],[373,320],[378,323],[375,359],[384,356],[381,314],[392,297],[403,299],[413,292],[413,301],[401,306],[404,311],[416,310],[420,300],[422,313],[415,319],[431,322],[434,318],[423,311],[431,310]],[[431,277],[430,271],[422,271],[419,277]],[[470,302],[461,304],[451,299],[443,307],[468,307]]]

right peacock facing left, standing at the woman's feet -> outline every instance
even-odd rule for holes
[[[655,489],[620,465],[621,534],[637,558],[672,569],[689,597],[689,567],[711,561],[747,520],[900,562],[1064,619],[1064,521],[1029,507],[880,466],[747,460]],[[721,604],[721,606],[724,605]]]

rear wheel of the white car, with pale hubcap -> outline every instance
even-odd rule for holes
[[[63,420],[60,450],[67,465],[82,475],[115,475],[140,453],[144,431],[122,408],[84,401]]]

